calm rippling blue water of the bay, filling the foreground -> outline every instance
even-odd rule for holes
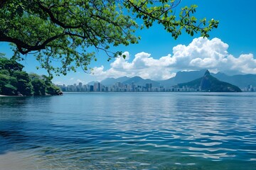
[[[0,169],[256,169],[256,93],[0,97]]]

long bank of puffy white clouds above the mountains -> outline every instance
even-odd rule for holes
[[[238,57],[228,53],[228,44],[219,38],[195,38],[189,45],[176,45],[172,55],[151,57],[140,52],[134,57],[124,52],[126,59],[116,58],[110,63],[110,69],[104,66],[94,67],[93,75],[102,80],[107,77],[134,77],[162,80],[175,76],[181,70],[210,69],[212,72],[230,74],[256,74],[256,60],[252,54]]]

